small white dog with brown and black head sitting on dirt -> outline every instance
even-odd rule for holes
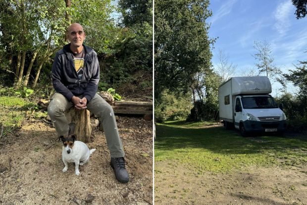
[[[63,142],[62,160],[65,164],[63,172],[68,169],[68,162],[75,163],[76,175],[79,175],[79,165],[83,165],[90,160],[90,155],[96,149],[89,149],[89,147],[82,141],[77,141],[74,135],[60,136],[59,139]]]

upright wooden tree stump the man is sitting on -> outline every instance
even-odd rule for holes
[[[75,124],[74,135],[77,137],[77,140],[83,141],[84,143],[89,142],[92,133],[90,111],[87,109],[77,110],[75,107],[72,107],[65,111],[64,114],[68,124]]]

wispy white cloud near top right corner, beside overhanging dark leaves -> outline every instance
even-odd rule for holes
[[[284,35],[289,27],[290,23],[290,15],[294,13],[294,6],[292,5],[291,0],[286,0],[280,3],[274,12],[275,24],[274,28],[278,31],[280,35]]]

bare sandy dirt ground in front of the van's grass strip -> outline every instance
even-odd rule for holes
[[[201,174],[160,161],[154,169],[155,205],[307,205],[307,165]]]

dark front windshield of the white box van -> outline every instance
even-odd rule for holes
[[[245,109],[278,108],[274,98],[270,96],[242,97],[241,100]]]

